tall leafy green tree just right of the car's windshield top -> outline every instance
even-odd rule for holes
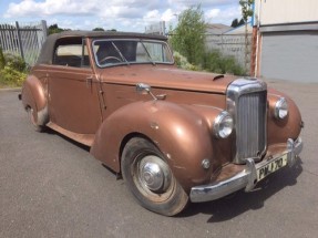
[[[206,24],[201,6],[191,7],[178,15],[177,27],[172,31],[173,49],[199,65],[205,50]]]

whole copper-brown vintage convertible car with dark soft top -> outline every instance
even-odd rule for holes
[[[90,146],[143,207],[166,216],[249,192],[302,148],[288,96],[257,79],[179,70],[158,35],[50,35],[20,99],[37,131]]]

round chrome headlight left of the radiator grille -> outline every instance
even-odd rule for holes
[[[230,135],[233,131],[233,118],[228,112],[223,111],[216,116],[213,131],[217,138],[226,138]]]

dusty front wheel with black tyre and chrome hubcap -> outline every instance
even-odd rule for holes
[[[181,213],[188,196],[173,176],[162,153],[150,141],[132,138],[122,155],[122,175],[137,201],[165,216]]]

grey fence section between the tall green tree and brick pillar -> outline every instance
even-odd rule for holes
[[[206,34],[207,50],[217,50],[223,55],[234,56],[249,71],[252,34]]]

